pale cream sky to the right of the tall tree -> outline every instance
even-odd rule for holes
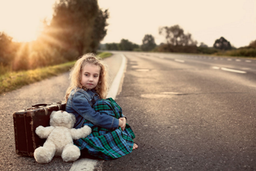
[[[159,27],[179,24],[192,34],[200,45],[212,47],[225,37],[235,47],[256,40],[255,0],[98,0],[101,8],[109,9],[108,35],[102,43],[128,39],[142,44],[144,35],[151,34],[157,44],[164,42]]]

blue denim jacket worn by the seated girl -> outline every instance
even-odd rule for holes
[[[76,116],[74,128],[81,128],[84,120],[89,120],[93,124],[115,130],[118,128],[119,120],[113,116],[101,114],[93,109],[94,103],[99,99],[98,94],[92,90],[77,89],[69,94],[66,111]]]

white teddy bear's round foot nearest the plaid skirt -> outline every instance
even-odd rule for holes
[[[61,154],[63,161],[76,161],[80,157],[80,149],[76,145],[68,144],[64,147]]]

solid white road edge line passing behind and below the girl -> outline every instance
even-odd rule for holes
[[[117,96],[119,85],[121,84],[123,73],[125,72],[126,67],[126,57],[123,54],[121,56],[122,63],[117,75],[114,78],[114,81],[112,82],[107,98],[112,97],[113,99],[115,99],[115,97]],[[93,171],[94,166],[97,164],[97,161],[98,160],[92,160],[87,158],[79,159],[73,162],[73,165],[71,166],[69,171]]]

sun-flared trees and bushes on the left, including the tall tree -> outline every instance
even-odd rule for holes
[[[53,11],[35,41],[17,43],[0,32],[0,74],[60,64],[97,52],[106,35],[108,10],[101,10],[97,0],[60,0]]]

